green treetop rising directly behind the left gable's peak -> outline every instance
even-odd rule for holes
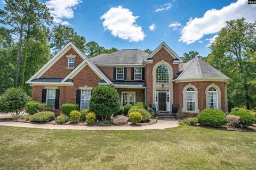
[[[51,31],[51,35],[51,47],[54,54],[58,53],[70,41],[85,52],[86,39],[83,36],[77,35],[77,32],[73,28],[65,25],[55,25]]]

